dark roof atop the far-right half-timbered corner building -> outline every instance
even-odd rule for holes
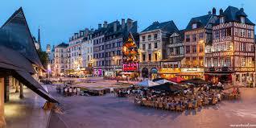
[[[247,14],[243,11],[243,9],[238,9],[237,7],[233,7],[233,6],[229,6],[222,14],[225,17],[225,23],[229,23],[229,22],[237,22],[240,23],[241,20],[239,18],[240,15],[242,16],[247,16]],[[217,20],[217,24],[220,23],[220,19]],[[246,24],[250,24],[250,25],[254,25],[254,23],[252,23],[250,21],[250,19],[248,19],[246,17]]]

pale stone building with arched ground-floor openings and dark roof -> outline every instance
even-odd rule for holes
[[[143,78],[158,76],[160,60],[167,58],[167,43],[174,31],[179,31],[173,21],[154,22],[139,33],[139,71]]]

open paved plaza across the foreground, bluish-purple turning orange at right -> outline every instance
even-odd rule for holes
[[[90,85],[90,83],[88,83]],[[256,124],[256,89],[241,89],[241,100],[221,101],[183,113],[134,105],[131,97],[63,97],[48,85],[49,92],[60,101],[64,114],[53,114],[67,127],[92,128],[219,128],[236,124]],[[55,118],[49,127],[58,126]],[[59,122],[60,123],[60,122]]]

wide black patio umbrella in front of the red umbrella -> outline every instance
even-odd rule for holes
[[[157,85],[157,86],[151,86],[151,87],[149,87],[149,89],[155,89],[155,90],[175,93],[175,92],[178,92],[178,91],[183,90],[185,88],[180,86],[180,85],[174,85],[174,84],[171,84],[171,83],[164,83],[164,84]]]

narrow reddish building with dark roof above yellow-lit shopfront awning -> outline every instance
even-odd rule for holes
[[[204,47],[213,42],[213,24],[217,20],[213,13],[192,18],[184,30],[184,57],[179,76],[184,79],[204,78]]]

